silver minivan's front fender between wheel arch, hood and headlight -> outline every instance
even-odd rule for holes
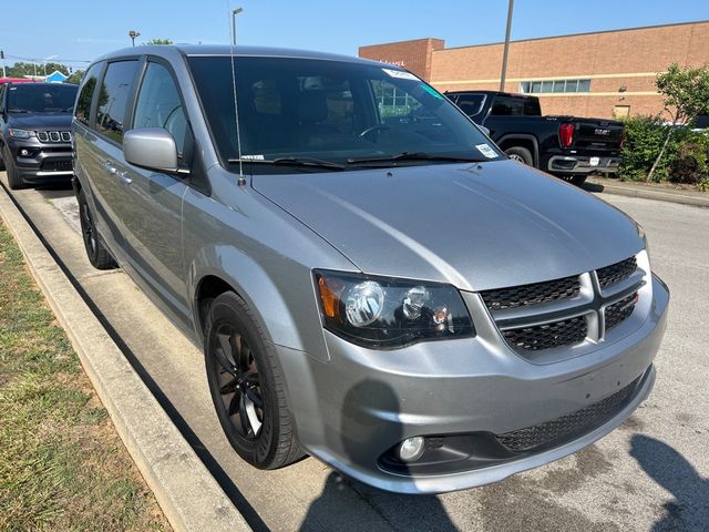
[[[187,291],[197,338],[199,283],[229,284],[260,319],[271,341],[327,359],[312,268],[353,270],[329,244],[218,166],[212,197],[189,190],[183,205]],[[216,175],[216,176],[215,176]]]

